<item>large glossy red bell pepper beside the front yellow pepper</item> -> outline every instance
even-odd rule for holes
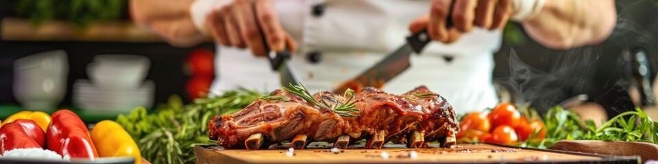
[[[97,159],[98,152],[84,122],[73,111],[62,109],[52,115],[47,135],[48,149],[71,158]]]

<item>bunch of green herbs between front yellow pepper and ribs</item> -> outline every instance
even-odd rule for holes
[[[151,163],[194,163],[194,146],[212,143],[208,121],[213,115],[235,113],[263,93],[240,88],[212,98],[197,98],[182,105],[180,98],[169,98],[151,114],[138,107],[130,115],[119,115],[121,124],[138,142],[143,158]]]

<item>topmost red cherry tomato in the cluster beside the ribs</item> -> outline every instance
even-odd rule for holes
[[[511,103],[500,103],[489,113],[488,117],[493,128],[502,125],[515,127],[521,120],[521,113]]]

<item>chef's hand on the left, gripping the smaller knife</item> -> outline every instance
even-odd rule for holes
[[[272,0],[221,0],[206,18],[206,28],[224,46],[249,48],[264,56],[265,40],[272,51],[295,51],[297,44],[279,23]]]

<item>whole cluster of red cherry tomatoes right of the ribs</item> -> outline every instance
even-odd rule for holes
[[[544,139],[546,128],[537,118],[528,120],[510,103],[500,103],[491,112],[468,113],[459,125],[459,142],[483,142],[514,145],[520,141]]]

